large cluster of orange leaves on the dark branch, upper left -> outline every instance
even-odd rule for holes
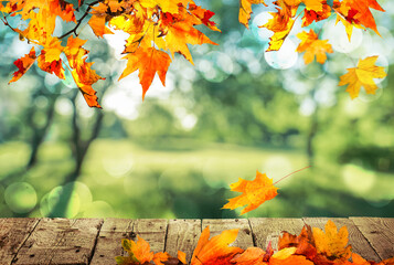
[[[2,2],[6,2],[3,4]],[[192,63],[188,44],[213,43],[206,35],[194,26],[204,24],[211,30],[219,31],[215,23],[210,21],[213,12],[202,9],[192,0],[98,0],[89,3],[79,0],[77,9],[87,6],[85,13],[76,20],[77,9],[65,0],[10,0],[0,1],[0,11],[7,14],[2,18],[6,25],[20,34],[22,40],[41,47],[36,55],[34,46],[30,53],[14,62],[18,71],[10,81],[18,81],[38,61],[41,70],[55,74],[64,80],[64,68],[70,67],[72,76],[86,103],[90,107],[100,107],[96,92],[92,85],[103,77],[92,70],[93,63],[87,63],[88,51],[83,47],[78,26],[88,15],[88,25],[97,38],[121,30],[129,34],[124,54],[127,67],[120,78],[139,70],[143,96],[151,85],[156,74],[162,84],[171,63],[170,54],[180,53]],[[24,30],[13,28],[7,17],[20,15],[25,20]],[[61,36],[54,36],[56,17],[75,26]],[[74,33],[76,36],[72,35]],[[67,41],[65,41],[65,39]],[[63,62],[64,54],[68,64]],[[119,80],[120,80],[119,78]]]

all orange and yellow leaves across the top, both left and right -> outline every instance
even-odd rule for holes
[[[266,6],[264,0],[239,0],[239,22],[246,28],[253,4]],[[274,4],[277,11],[270,12],[273,18],[262,25],[274,32],[267,51],[280,49],[298,18],[301,18],[302,26],[308,26],[336,15],[337,22],[344,24],[350,40],[353,28],[371,29],[379,34],[370,9],[384,11],[376,0],[334,0],[330,4],[327,0],[277,0]],[[0,1],[0,12],[7,26],[18,32],[21,40],[35,46],[14,62],[18,71],[10,83],[18,81],[35,61],[42,71],[62,80],[68,67],[90,107],[100,107],[92,85],[103,77],[92,68],[93,63],[86,62],[88,51],[83,46],[86,40],[78,38],[78,28],[84,21],[88,21],[97,38],[111,34],[113,30],[128,33],[123,52],[127,66],[119,80],[138,70],[142,98],[156,74],[166,84],[166,74],[174,53],[193,63],[188,44],[215,44],[195,29],[196,25],[220,31],[211,21],[214,13],[196,6],[193,0],[78,0],[77,7],[65,0],[9,0]],[[76,19],[78,14],[81,18]],[[28,26],[20,29],[11,25],[8,21],[10,15],[20,15]],[[54,35],[57,17],[73,24],[72,30],[61,36]],[[328,40],[319,40],[319,34],[313,30],[304,31],[297,36],[301,41],[297,52],[305,52],[306,64],[315,61],[315,57],[322,64],[327,53],[332,53]],[[370,94],[377,89],[374,78],[383,78],[386,73],[383,67],[375,65],[376,60],[376,56],[360,60],[355,67],[341,76],[339,85],[348,85],[347,91],[352,98],[359,95],[361,87]]]

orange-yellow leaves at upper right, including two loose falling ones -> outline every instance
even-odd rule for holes
[[[337,23],[341,22],[347,31],[349,41],[354,28],[371,29],[380,35],[376,22],[370,9],[384,12],[376,0],[333,0],[331,4],[327,0],[278,0],[274,2],[277,12],[270,12],[273,18],[268,23],[260,25],[274,32],[267,51],[278,51],[289,35],[295,22],[301,17],[301,26],[308,26],[312,22],[319,22],[336,17]],[[239,21],[248,26],[252,13],[252,4],[265,4],[264,0],[241,0]],[[302,15],[301,15],[302,14]],[[310,64],[316,61],[326,63],[327,53],[332,53],[332,46],[328,40],[319,40],[319,34],[312,29],[297,34],[300,43],[297,52],[304,53],[304,61]],[[377,56],[361,59],[355,67],[348,68],[348,73],[340,77],[339,85],[347,85],[347,92],[351,98],[359,96],[361,87],[368,94],[375,94],[377,86],[374,78],[384,78],[384,67],[376,66]]]

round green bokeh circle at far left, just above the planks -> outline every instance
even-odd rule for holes
[[[35,189],[26,182],[15,182],[4,191],[7,205],[15,213],[28,213],[36,204]]]

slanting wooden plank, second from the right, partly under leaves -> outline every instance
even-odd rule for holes
[[[352,245],[352,250],[354,253],[358,253],[362,257],[368,261],[379,262],[380,257],[376,252],[372,248],[370,243],[360,232],[360,230],[355,226],[352,220],[350,219],[329,219],[329,218],[305,218],[304,221],[306,224],[309,224],[312,227],[318,227],[324,231],[324,226],[327,222],[331,220],[340,230],[342,226],[347,226],[349,232],[349,244]]]

